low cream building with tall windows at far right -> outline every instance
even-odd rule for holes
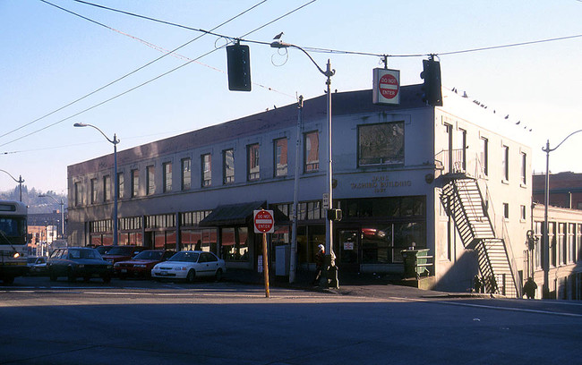
[[[542,298],[543,204],[534,204],[533,214],[534,240],[526,260],[526,273],[534,277],[538,286],[535,297]],[[582,210],[549,206],[548,242],[550,298],[582,300]]]

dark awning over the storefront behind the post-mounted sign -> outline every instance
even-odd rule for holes
[[[202,219],[198,225],[201,227],[251,225],[252,212],[265,207],[267,207],[266,201],[218,206],[212,209],[212,213]],[[277,208],[273,209],[273,214],[275,215],[275,225],[289,222],[289,218]]]

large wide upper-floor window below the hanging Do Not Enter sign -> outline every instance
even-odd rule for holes
[[[404,122],[358,126],[358,165],[404,164]]]

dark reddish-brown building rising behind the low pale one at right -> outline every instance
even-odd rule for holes
[[[533,200],[544,204],[545,174],[533,176]],[[563,172],[549,176],[550,206],[582,209],[582,174]]]

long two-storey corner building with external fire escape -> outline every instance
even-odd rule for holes
[[[399,106],[372,104],[372,90],[335,93],[333,249],[343,274],[401,274],[402,250],[428,249],[430,287],[521,291],[531,225],[531,151],[492,132],[493,116],[455,94],[427,106],[421,85]],[[273,208],[270,259],[289,246],[299,149],[298,269],[325,242],[326,96],[157,140],[68,166],[70,244],[112,242],[118,189],[120,244],[212,250],[228,267],[256,270],[261,240],[252,210]],[[297,143],[298,141],[298,143]],[[422,274],[422,273],[421,273]],[[492,278],[495,278],[492,280]]]

